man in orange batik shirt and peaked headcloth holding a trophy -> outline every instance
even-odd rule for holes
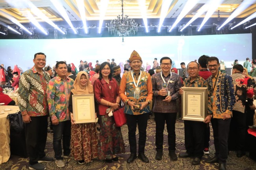
[[[119,90],[120,97],[127,103],[124,112],[126,113],[131,152],[127,163],[132,163],[132,161],[137,158],[135,135],[137,123],[139,129],[138,158],[148,163],[149,161],[144,151],[147,137],[148,113],[150,112],[148,104],[152,101],[153,95],[152,82],[149,73],[141,71],[142,59],[135,50],[132,52],[129,60],[132,71],[124,73]]]

